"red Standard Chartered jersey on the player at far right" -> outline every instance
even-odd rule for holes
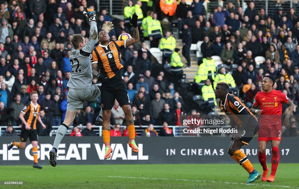
[[[273,89],[270,93],[258,92],[253,104],[257,107],[260,105],[260,110],[263,110],[260,126],[281,125],[282,103],[288,101],[288,96],[280,90]]]

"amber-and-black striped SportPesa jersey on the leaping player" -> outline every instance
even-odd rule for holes
[[[120,72],[120,69],[123,68],[123,65],[120,63],[119,54],[120,50],[123,48],[126,48],[126,40],[111,40],[107,46],[100,44],[92,50],[91,64],[98,64],[100,73],[105,77],[104,82],[113,78],[115,75],[120,76],[118,72]]]

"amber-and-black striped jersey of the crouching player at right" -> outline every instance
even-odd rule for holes
[[[239,127],[242,126],[242,119],[248,118],[248,125],[258,124],[257,118],[237,96],[228,93],[224,103],[222,100],[219,101],[219,107],[230,118],[230,120],[234,121]],[[249,117],[247,117],[247,115]]]

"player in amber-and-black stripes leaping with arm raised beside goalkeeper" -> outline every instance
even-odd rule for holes
[[[101,86],[101,106],[103,110],[103,140],[105,143],[105,159],[111,157],[112,148],[110,148],[110,116],[111,109],[115,99],[119,102],[126,116],[126,125],[129,132],[129,146],[134,152],[138,152],[138,146],[135,143],[135,125],[131,110],[131,101],[126,88],[126,83],[122,79],[120,64],[120,50],[131,46],[139,41],[139,32],[137,27],[138,16],[134,13],[130,18],[130,23],[134,27],[133,38],[114,41],[110,40],[105,30],[100,30],[98,38],[100,45],[92,51],[92,72],[97,75],[98,80],[102,81]],[[100,74],[97,72],[97,66],[100,68]]]

